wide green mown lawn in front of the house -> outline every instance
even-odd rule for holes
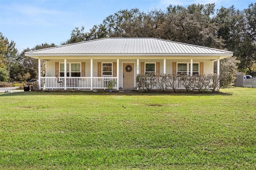
[[[0,103],[0,169],[256,168],[256,89],[16,92]]]

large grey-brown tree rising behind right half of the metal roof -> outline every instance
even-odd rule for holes
[[[192,4],[187,8],[171,5],[166,20],[160,25],[160,38],[176,42],[221,48],[222,40],[216,35],[216,24],[210,18],[214,4]]]

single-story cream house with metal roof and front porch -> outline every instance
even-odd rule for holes
[[[214,61],[219,74],[220,59],[233,52],[157,38],[103,38],[25,55],[38,59],[40,89],[106,89],[106,83],[114,79],[118,90],[136,88],[138,74],[212,73]]]

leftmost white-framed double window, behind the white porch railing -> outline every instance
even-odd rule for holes
[[[81,63],[67,63],[67,77],[81,77]],[[64,63],[60,63],[60,77],[64,77]]]

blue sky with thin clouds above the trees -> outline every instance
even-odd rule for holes
[[[22,52],[42,43],[60,45],[70,38],[75,27],[84,26],[88,32],[119,10],[164,11],[170,4],[198,3],[215,3],[215,9],[234,5],[243,10],[255,0],[0,0],[0,32]]]

